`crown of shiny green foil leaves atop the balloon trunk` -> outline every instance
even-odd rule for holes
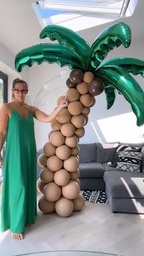
[[[138,82],[129,74],[144,76],[143,60],[121,57],[101,64],[115,46],[122,44],[125,48],[129,47],[131,29],[127,24],[120,22],[107,27],[96,37],[91,47],[76,32],[61,26],[46,26],[40,33],[40,38],[45,37],[52,41],[58,40],[59,43],[41,43],[20,51],[15,58],[17,71],[21,71],[25,65],[31,67],[34,63],[42,62],[56,62],[60,67],[68,65],[70,69],[91,71],[97,78],[92,85],[88,84],[88,91],[93,96],[99,93],[98,90],[96,92],[96,86],[100,78],[104,84],[107,109],[112,107],[117,89],[131,104],[132,111],[137,116],[137,125],[144,123],[144,94]],[[70,80],[73,82],[73,78]]]

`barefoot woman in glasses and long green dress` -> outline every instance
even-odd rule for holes
[[[62,108],[68,106],[65,98],[50,114],[24,103],[27,83],[15,79],[13,101],[0,109],[0,153],[6,139],[4,177],[2,182],[1,230],[10,229],[16,240],[24,238],[24,226],[35,222],[37,215],[37,158],[33,117],[41,122],[54,120]],[[0,154],[0,165],[2,166]]]

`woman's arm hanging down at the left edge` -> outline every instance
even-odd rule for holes
[[[9,108],[7,103],[3,104],[0,109],[0,166],[2,166],[1,150],[7,136],[7,123],[9,121]]]

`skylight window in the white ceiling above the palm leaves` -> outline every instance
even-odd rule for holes
[[[42,27],[57,24],[73,31],[131,16],[138,0],[41,0],[33,4]]]

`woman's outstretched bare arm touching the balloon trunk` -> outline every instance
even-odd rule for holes
[[[57,117],[60,110],[62,108],[67,108],[67,106],[68,98],[65,98],[65,100],[62,100],[59,106],[56,109],[54,109],[54,111],[50,115],[47,115],[45,112],[40,111],[40,109],[35,108],[34,106],[32,106],[32,112],[34,113],[35,119],[37,119],[38,121],[43,123],[51,123]]]

